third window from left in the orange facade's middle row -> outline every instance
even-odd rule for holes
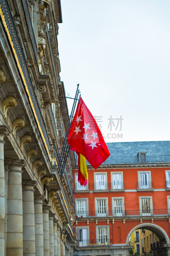
[[[124,215],[124,197],[112,197],[113,216]]]

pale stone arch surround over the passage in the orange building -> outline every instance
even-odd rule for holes
[[[132,228],[132,230],[129,232],[126,244],[129,244],[129,239],[132,233],[137,229],[147,229],[155,233],[155,235],[158,236],[159,240],[161,241],[162,238],[165,238],[166,244],[170,244],[169,237],[166,234],[165,230],[163,228],[159,227],[158,225],[155,225],[153,223],[141,223],[140,225],[137,225],[136,227]]]

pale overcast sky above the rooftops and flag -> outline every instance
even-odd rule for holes
[[[61,0],[61,7],[61,81],[70,97],[80,84],[105,141],[170,140],[170,1]],[[110,116],[122,116],[121,131],[118,120],[110,131]]]

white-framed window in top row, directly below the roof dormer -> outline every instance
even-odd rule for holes
[[[138,189],[151,189],[151,171],[138,172]]]

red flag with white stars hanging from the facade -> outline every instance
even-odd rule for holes
[[[95,169],[110,156],[100,129],[82,98],[71,123],[68,143]]]

